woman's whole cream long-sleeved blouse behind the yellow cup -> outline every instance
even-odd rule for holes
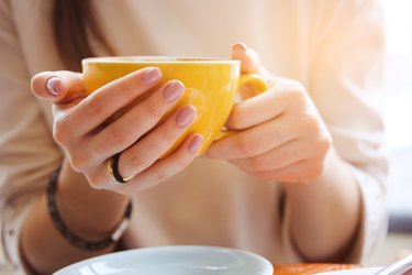
[[[370,254],[387,222],[378,103],[385,43],[375,1],[94,0],[94,6],[116,55],[229,57],[242,41],[271,73],[299,80],[363,190],[361,233],[348,260]],[[10,274],[24,273],[19,230],[63,158],[52,136],[51,106],[30,90],[36,73],[64,69],[51,12],[51,0],[0,1],[1,274],[8,258],[14,266]],[[130,248],[211,244],[248,250],[272,263],[298,262],[281,197],[277,183],[198,157],[168,183],[133,197],[124,238]]]

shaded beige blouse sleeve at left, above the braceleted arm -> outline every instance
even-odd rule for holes
[[[24,215],[62,160],[31,92],[15,30],[10,2],[0,1],[0,271],[22,271],[19,232]]]

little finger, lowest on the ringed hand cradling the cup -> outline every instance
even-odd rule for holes
[[[130,194],[130,191],[141,191],[165,182],[185,169],[193,161],[202,142],[202,135],[190,134],[176,152],[157,161],[132,178],[126,185],[120,186],[116,184],[118,190],[123,194]]]

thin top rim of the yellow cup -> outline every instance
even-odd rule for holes
[[[199,57],[199,56],[167,56],[167,55],[127,55],[127,56],[97,56],[87,57],[82,63],[99,64],[234,64],[240,63],[238,59],[216,58],[216,57]]]

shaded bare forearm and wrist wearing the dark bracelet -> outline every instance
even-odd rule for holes
[[[56,204],[70,231],[83,240],[100,241],[113,233],[122,221],[127,198],[91,188],[82,175],[65,164],[58,179]],[[70,244],[53,223],[45,195],[33,206],[21,235],[22,254],[38,274],[52,274],[57,268],[110,252],[113,248],[85,251]]]

